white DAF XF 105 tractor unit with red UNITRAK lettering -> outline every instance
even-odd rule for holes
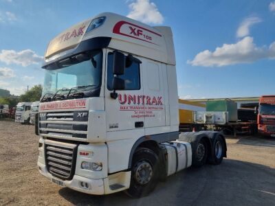
[[[170,27],[102,13],[45,52],[36,135],[39,172],[87,194],[145,196],[191,165],[221,163],[223,135],[179,133]]]

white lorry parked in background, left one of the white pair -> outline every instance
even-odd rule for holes
[[[30,122],[30,106],[32,102],[19,102],[17,104],[17,110],[15,111],[15,122],[21,122],[21,124]]]

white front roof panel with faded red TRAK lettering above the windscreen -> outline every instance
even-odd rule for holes
[[[58,52],[63,52],[78,45],[82,40],[91,20],[83,21],[70,27],[54,38],[48,45],[45,58],[49,58]]]

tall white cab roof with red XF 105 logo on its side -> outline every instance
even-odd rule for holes
[[[102,25],[91,30],[89,25],[100,17],[104,17]],[[110,12],[98,14],[58,34],[47,47],[45,62],[73,52],[81,42],[97,37],[111,38],[108,45],[110,48],[175,65],[170,27],[151,27]]]

